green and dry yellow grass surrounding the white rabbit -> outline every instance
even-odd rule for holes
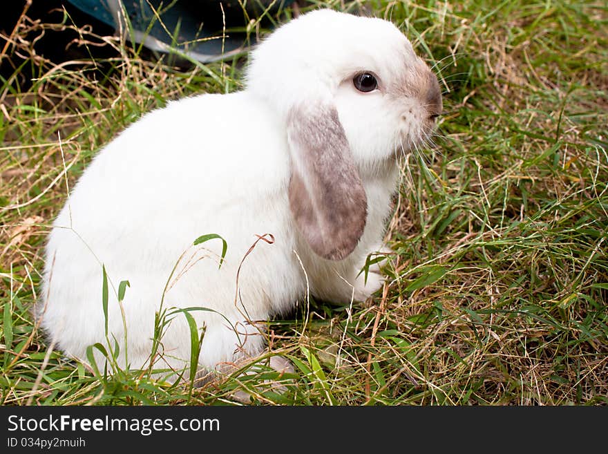
[[[257,404],[608,402],[605,2],[363,6],[435,65],[441,138],[426,160],[404,163],[383,290],[269,323],[272,348],[296,366],[282,394],[258,366],[191,388],[106,377],[49,348],[30,308],[68,187],[142,113],[240,88],[243,59],[180,69],[78,30],[72,46],[85,55],[102,41],[115,55],[57,65],[32,53],[31,37],[73,28],[70,18],[21,18],[0,56],[15,66],[0,88],[1,404],[228,404],[238,389]]]

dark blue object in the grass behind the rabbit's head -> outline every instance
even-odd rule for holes
[[[276,12],[294,0],[258,0],[247,8],[256,17],[269,8]],[[255,37],[237,28],[245,27],[245,12],[237,0],[68,0],[95,19],[119,30],[146,48],[161,53],[184,53],[199,62],[213,62],[243,52]],[[169,3],[169,6],[167,4]],[[249,2],[247,2],[249,4]],[[124,17],[128,20],[125,20]],[[159,20],[160,18],[160,20]],[[222,37],[224,21],[225,36]],[[130,28],[128,27],[130,24]],[[222,51],[223,49],[223,51]]]

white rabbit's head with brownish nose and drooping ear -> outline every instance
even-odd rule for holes
[[[285,122],[289,204],[323,258],[341,260],[365,228],[362,179],[395,169],[441,113],[437,77],[392,23],[317,10],[278,28],[252,55],[247,91]]]

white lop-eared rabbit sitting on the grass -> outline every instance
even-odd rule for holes
[[[348,302],[381,286],[379,274],[365,283],[359,272],[381,247],[399,154],[441,113],[437,78],[392,23],[331,10],[281,26],[251,58],[243,91],[144,115],[73,188],[48,238],[37,303],[66,354],[86,361],[87,346],[106,344],[102,265],[108,337],[131,368],[151,361],[161,300],[213,311],[189,312],[205,327],[199,366],[213,370],[262,352],[260,323],[308,290]],[[220,267],[221,240],[193,246],[205,234],[227,242]],[[155,367],[183,370],[190,339],[175,314]]]

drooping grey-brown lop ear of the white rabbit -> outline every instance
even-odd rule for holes
[[[330,105],[293,108],[287,140],[296,225],[316,254],[341,260],[363,234],[368,202],[338,111]]]

